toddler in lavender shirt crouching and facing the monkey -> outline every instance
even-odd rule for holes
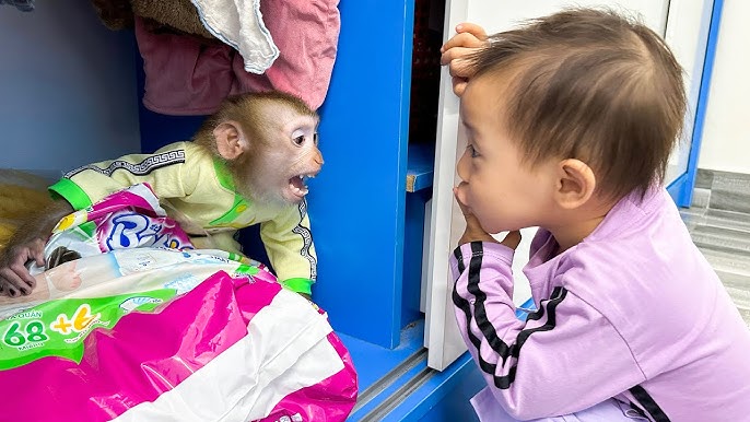
[[[669,48],[588,9],[458,31],[442,58],[468,139],[450,266],[480,419],[750,421],[750,330],[663,186],[685,112]],[[511,263],[530,226],[522,321]]]

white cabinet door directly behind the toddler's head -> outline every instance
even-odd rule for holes
[[[656,33],[665,36],[685,69],[690,109],[694,115],[712,4],[712,0],[446,0],[444,40],[455,34],[454,28],[461,22],[478,23],[488,34],[492,34],[508,30],[523,20],[553,13],[566,5],[605,5],[635,13]],[[692,119],[689,118],[689,121]],[[691,130],[685,130],[685,133],[690,134]],[[687,168],[690,137],[684,139],[687,141],[672,154],[668,181]],[[442,371],[466,351],[454,316],[450,300],[453,280],[447,265],[448,256],[456,247],[465,226],[452,188],[457,184],[455,166],[459,152],[466,148],[466,138],[459,132],[458,98],[453,94],[446,68],[443,69],[441,79],[436,143],[430,242],[425,243],[430,247],[425,269],[425,347],[429,348],[427,365]],[[516,305],[529,297],[528,281],[520,268],[528,260],[528,247],[534,232],[534,228],[522,231],[524,242],[518,247],[514,261]]]

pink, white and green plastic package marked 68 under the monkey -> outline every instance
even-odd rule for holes
[[[325,312],[259,262],[192,249],[141,188],[61,221],[50,244],[89,248],[36,276],[50,294],[0,300],[2,418],[344,421],[356,372]]]

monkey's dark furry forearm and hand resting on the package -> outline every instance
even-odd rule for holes
[[[11,237],[8,247],[0,251],[0,295],[16,297],[28,295],[36,288],[36,280],[26,263],[36,261],[44,267],[44,247],[55,224],[73,208],[67,201],[57,201],[47,212],[25,221]]]

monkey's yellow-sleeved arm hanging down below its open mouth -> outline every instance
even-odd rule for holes
[[[318,259],[307,216],[307,203],[289,206],[276,219],[260,223],[260,237],[279,282],[285,288],[312,294]]]

